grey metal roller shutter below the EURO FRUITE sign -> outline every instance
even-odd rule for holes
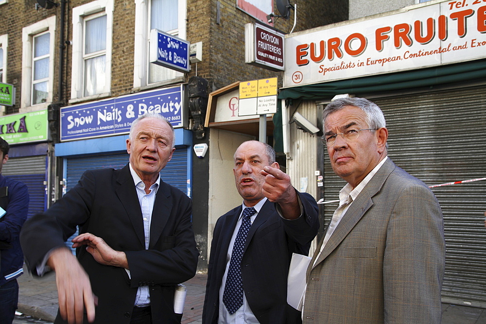
[[[486,176],[486,87],[373,99],[389,130],[388,156],[427,185]],[[325,200],[345,182],[325,159]],[[486,181],[433,188],[444,214],[445,302],[486,307]],[[329,222],[335,204],[325,205]]]

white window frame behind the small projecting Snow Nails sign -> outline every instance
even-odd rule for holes
[[[148,82],[148,44],[150,38],[149,2],[150,0],[135,0],[135,50],[133,66],[134,89],[158,87],[161,85],[169,85],[184,81],[184,73],[177,72],[175,79],[164,80],[151,84]],[[186,39],[187,0],[179,0],[178,6],[179,17],[177,24],[179,28],[174,31],[177,32],[177,37]]]

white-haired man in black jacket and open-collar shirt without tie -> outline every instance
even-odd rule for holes
[[[139,117],[126,141],[128,165],[86,171],[48,211],[25,223],[21,244],[30,271],[56,272],[55,323],[178,322],[175,286],[194,276],[198,252],[191,200],[159,175],[174,143],[167,120]],[[64,247],[76,225],[77,259]]]

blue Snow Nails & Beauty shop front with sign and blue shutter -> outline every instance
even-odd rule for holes
[[[61,108],[61,143],[55,145],[55,155],[62,159],[63,192],[74,187],[84,171],[123,168],[129,159],[126,140],[132,121],[156,113],[175,130],[175,152],[161,179],[191,197],[192,132],[184,128],[185,98],[185,86],[179,85]]]

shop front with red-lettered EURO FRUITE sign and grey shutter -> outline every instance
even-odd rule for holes
[[[337,199],[345,183],[330,167],[322,133],[303,135],[289,121],[299,112],[322,128],[325,104],[341,95],[382,108],[388,156],[427,185],[484,178],[485,32],[484,2],[444,1],[287,36],[279,99],[289,173],[312,179],[317,199]],[[442,300],[486,307],[486,181],[432,190],[444,215]],[[321,206],[324,228],[336,205]]]

